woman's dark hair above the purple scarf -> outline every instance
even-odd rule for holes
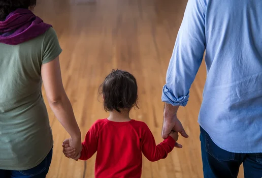
[[[4,21],[6,17],[13,11],[22,9],[34,9],[37,0],[0,0],[0,21]]]

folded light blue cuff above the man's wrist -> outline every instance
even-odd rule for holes
[[[167,85],[163,86],[162,91],[162,102],[171,104],[173,106],[186,106],[188,102],[189,94],[176,98],[173,93],[169,90]]]

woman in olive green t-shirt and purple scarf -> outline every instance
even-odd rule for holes
[[[42,81],[76,155],[81,133],[61,80],[54,29],[29,9],[36,0],[0,0],[0,177],[46,177],[53,139]]]

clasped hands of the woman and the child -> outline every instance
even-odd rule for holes
[[[73,139],[72,137],[63,141],[63,154],[65,157],[72,158],[76,161],[81,156],[82,143],[79,139]]]

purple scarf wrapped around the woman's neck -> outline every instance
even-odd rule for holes
[[[17,45],[44,34],[50,27],[30,10],[17,9],[0,21],[0,43]]]

